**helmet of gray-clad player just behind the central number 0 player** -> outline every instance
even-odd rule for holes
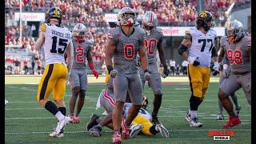
[[[158,17],[153,11],[147,11],[142,18],[142,28],[152,30],[158,24]]]

